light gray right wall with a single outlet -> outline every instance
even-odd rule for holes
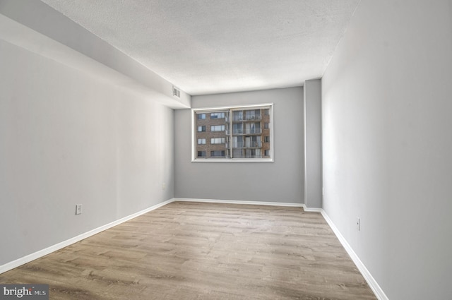
[[[448,0],[362,1],[323,76],[323,208],[391,300],[452,299],[451,82]]]

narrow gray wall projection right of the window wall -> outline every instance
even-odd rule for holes
[[[304,82],[304,200],[308,208],[322,207],[321,80]]]

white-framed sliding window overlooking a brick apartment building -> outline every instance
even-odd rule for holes
[[[273,162],[272,123],[273,104],[192,109],[192,161]]]

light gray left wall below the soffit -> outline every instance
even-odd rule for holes
[[[1,39],[0,53],[0,265],[174,197],[172,109]]]

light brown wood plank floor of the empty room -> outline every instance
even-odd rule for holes
[[[323,217],[174,202],[0,275],[50,299],[376,299]]]

